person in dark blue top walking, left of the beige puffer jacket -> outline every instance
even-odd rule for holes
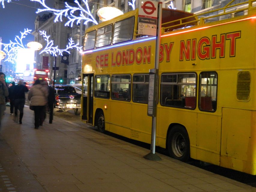
[[[14,86],[14,121],[17,120],[18,110],[20,111],[20,124],[22,124],[23,109],[25,105],[25,93],[28,92],[28,88],[22,84],[22,80],[19,80],[18,85]]]

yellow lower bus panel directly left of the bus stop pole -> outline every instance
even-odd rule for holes
[[[152,117],[147,115],[147,105],[133,103],[131,114],[131,139],[151,143]]]

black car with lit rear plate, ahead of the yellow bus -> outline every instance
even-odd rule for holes
[[[74,109],[75,114],[79,115],[78,110],[81,108],[82,90],[72,85],[54,85],[54,89],[56,100],[54,102],[54,111]]]

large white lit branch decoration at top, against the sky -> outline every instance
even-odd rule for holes
[[[83,22],[83,24],[87,24],[88,22],[93,22],[96,25],[98,24],[98,22],[94,19],[94,17],[91,14],[91,11],[89,9],[89,5],[88,5],[88,0],[82,0],[83,3],[86,6],[86,9],[84,9],[81,4],[75,0],[74,3],[76,3],[78,5],[78,7],[72,7],[70,6],[67,2],[65,2],[65,7],[66,9],[62,9],[62,10],[57,10],[57,9],[53,9],[48,7],[45,4],[45,0],[30,0],[30,1],[36,1],[38,3],[40,3],[41,5],[43,5],[45,8],[44,9],[38,9],[36,11],[36,13],[41,13],[43,11],[51,11],[53,12],[56,17],[54,19],[54,22],[57,21],[62,21],[62,16],[64,15],[65,17],[67,17],[69,20],[65,23],[65,26],[73,26],[73,23],[77,20],[76,24],[79,24],[81,20],[85,20]],[[79,13],[79,16],[77,16],[75,13]]]

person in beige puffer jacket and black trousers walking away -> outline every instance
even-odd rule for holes
[[[43,85],[39,79],[36,79],[28,95],[30,106],[33,107],[35,112],[35,129],[38,129],[39,125],[43,125],[48,95],[47,86]]]

